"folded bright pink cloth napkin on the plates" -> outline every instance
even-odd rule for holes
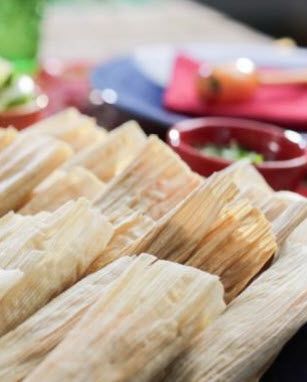
[[[199,99],[195,81],[200,63],[180,55],[172,79],[164,94],[164,106],[176,112],[195,116],[228,116],[251,118],[307,130],[307,86],[260,86],[253,99],[225,104],[206,103]]]

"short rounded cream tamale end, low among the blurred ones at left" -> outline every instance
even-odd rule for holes
[[[82,167],[72,167],[67,171],[55,170],[32,191],[19,213],[29,215],[54,211],[69,200],[77,200],[81,196],[94,200],[104,187],[104,183]]]

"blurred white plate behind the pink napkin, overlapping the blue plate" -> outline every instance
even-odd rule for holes
[[[248,57],[259,66],[307,67],[307,49],[278,45],[193,43],[186,45],[157,44],[135,49],[137,68],[156,84],[165,87],[170,80],[178,53],[217,63]]]

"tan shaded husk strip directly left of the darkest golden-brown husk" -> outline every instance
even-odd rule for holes
[[[145,242],[146,251],[159,258],[185,263],[236,194],[233,183],[212,175],[161,219],[162,229],[149,245]],[[142,240],[136,251],[144,250]]]

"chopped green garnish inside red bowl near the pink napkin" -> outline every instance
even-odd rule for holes
[[[231,141],[230,145],[216,146],[216,145],[206,145],[200,148],[200,151],[208,156],[221,157],[227,160],[236,161],[240,159],[249,159],[253,164],[261,164],[264,162],[264,157],[255,151],[246,150],[239,146],[236,141]]]

